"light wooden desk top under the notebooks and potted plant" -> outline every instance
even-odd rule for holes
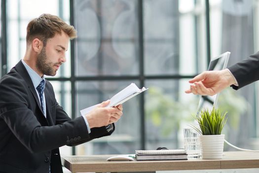
[[[217,170],[259,168],[259,153],[224,152],[219,160],[106,161],[112,155],[64,156],[62,164],[78,172],[155,172],[174,170]]]

